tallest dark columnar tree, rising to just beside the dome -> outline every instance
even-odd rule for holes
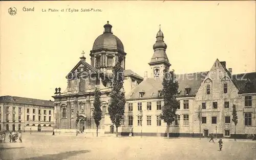
[[[110,119],[116,126],[116,137],[118,137],[118,127],[123,120],[125,97],[123,90],[123,68],[121,67],[122,57],[118,57],[116,65],[113,67],[112,91],[110,94],[110,104],[108,107]]]

